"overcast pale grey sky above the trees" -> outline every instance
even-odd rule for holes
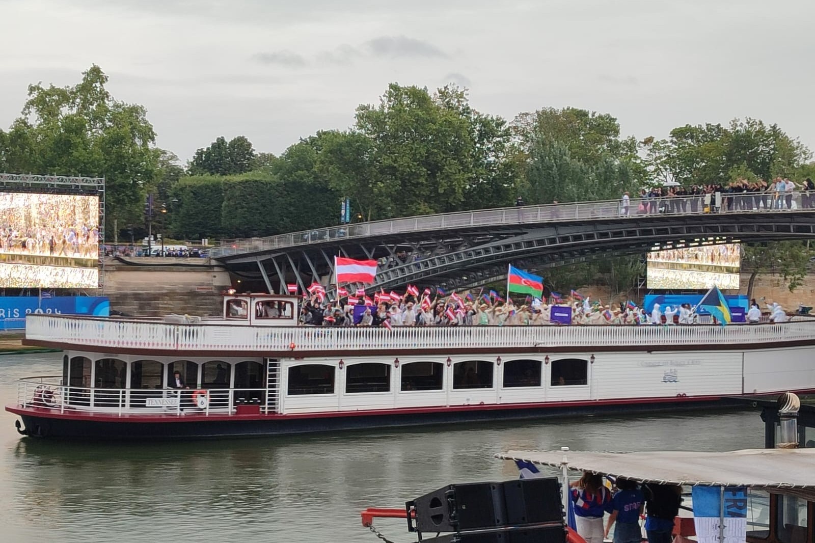
[[[813,0],[0,0],[0,126],[99,64],[189,158],[346,128],[389,82],[457,82],[512,118],[575,106],[664,137],[757,117],[815,148]]]

